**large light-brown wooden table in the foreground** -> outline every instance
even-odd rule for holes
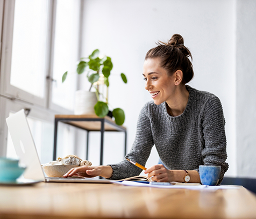
[[[256,218],[244,187],[194,191],[116,184],[40,182],[0,186],[0,218]]]

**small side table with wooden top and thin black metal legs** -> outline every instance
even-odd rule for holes
[[[57,151],[57,134],[58,134],[58,122],[63,122],[83,130],[87,130],[87,146],[86,146],[86,159],[88,160],[88,144],[89,144],[89,132],[101,132],[101,151],[99,157],[99,165],[103,165],[103,142],[104,132],[124,132],[124,156],[126,155],[126,142],[127,133],[124,126],[118,126],[109,117],[99,118],[95,114],[85,115],[55,115],[54,121],[54,144],[53,144],[53,160],[56,159]]]

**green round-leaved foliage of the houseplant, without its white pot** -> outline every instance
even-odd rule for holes
[[[99,50],[95,49],[89,57],[81,58],[80,62],[77,64],[76,72],[77,74],[82,74],[87,72],[87,78],[90,82],[90,89],[94,87],[96,91],[97,103],[94,106],[94,112],[99,117],[104,117],[109,114],[109,103],[108,103],[108,87],[109,87],[109,76],[113,68],[113,63],[109,56],[99,57]],[[68,72],[66,71],[62,76],[62,83],[65,82]],[[126,84],[126,76],[120,74],[123,82]],[[99,84],[106,85],[106,95],[99,91]],[[125,120],[125,114],[123,109],[115,108],[111,112],[113,118],[117,125],[122,125]],[[111,114],[110,113],[110,114]]]

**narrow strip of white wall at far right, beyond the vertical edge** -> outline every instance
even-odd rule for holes
[[[256,177],[256,1],[237,2],[237,173]]]

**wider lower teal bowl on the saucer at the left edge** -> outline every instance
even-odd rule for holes
[[[13,182],[19,178],[25,171],[26,167],[0,167],[0,182]]]

